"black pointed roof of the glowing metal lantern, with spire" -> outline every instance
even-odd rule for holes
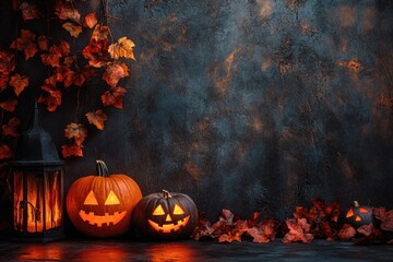
[[[59,158],[51,135],[39,126],[38,112],[35,102],[33,121],[17,140],[13,166],[60,166],[64,163]]]

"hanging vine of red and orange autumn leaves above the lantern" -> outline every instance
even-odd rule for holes
[[[119,82],[129,76],[129,68],[124,60],[135,60],[134,43],[126,36],[115,38],[109,25],[112,17],[108,14],[108,2],[94,1],[100,5],[100,21],[96,11],[81,14],[79,7],[86,10],[94,5],[88,5],[88,2],[92,2],[90,0],[78,1],[79,7],[73,0],[49,2],[46,7],[43,7],[43,1],[11,2],[13,11],[21,15],[23,22],[46,19],[48,28],[46,35],[36,35],[33,31],[23,28],[22,23],[21,28],[17,28],[17,38],[12,40],[8,48],[0,47],[0,94],[11,94],[5,100],[0,100],[0,159],[13,157],[11,141],[19,135],[20,126],[14,111],[20,95],[29,87],[29,78],[17,71],[17,56],[23,56],[25,61],[38,56],[47,68],[37,102],[44,104],[48,111],[55,112],[61,106],[62,94],[67,90],[76,88],[75,119],[64,129],[64,136],[69,143],[61,146],[63,157],[83,156],[83,143],[87,138],[87,129],[83,122],[104,130],[105,121],[108,119],[104,108],[122,108],[127,90],[121,87]],[[64,38],[69,40],[50,37],[49,25],[53,22],[60,23],[66,31]],[[82,50],[75,50],[75,43],[83,32],[91,34],[88,44]],[[70,43],[73,44],[73,48]],[[83,112],[83,119],[79,119],[81,88],[86,88],[91,80],[97,78],[107,85],[107,90],[98,98],[102,100],[102,108]]]

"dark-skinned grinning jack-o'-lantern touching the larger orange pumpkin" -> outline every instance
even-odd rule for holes
[[[152,193],[133,211],[133,225],[140,237],[179,239],[190,237],[198,223],[198,209],[182,193]]]

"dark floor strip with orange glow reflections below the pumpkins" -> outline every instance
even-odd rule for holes
[[[393,261],[393,246],[356,246],[314,240],[306,243],[183,240],[61,240],[48,243],[0,241],[0,261]]]

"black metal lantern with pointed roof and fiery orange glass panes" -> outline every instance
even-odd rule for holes
[[[63,160],[50,134],[34,119],[19,139],[13,172],[12,239],[50,241],[63,237]]]

